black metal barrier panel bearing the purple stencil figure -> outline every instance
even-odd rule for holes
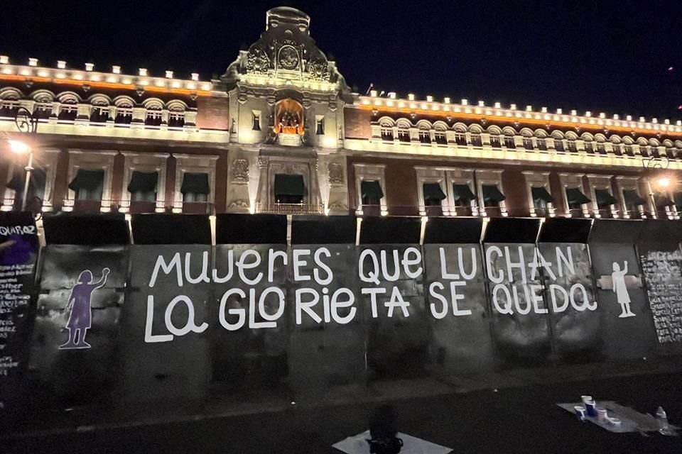
[[[127,276],[124,245],[43,249],[30,363],[36,402],[82,405],[112,397]]]

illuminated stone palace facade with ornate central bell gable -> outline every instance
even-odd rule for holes
[[[271,9],[214,80],[0,56],[1,133],[39,118],[28,208],[679,218],[680,122],[357,94],[309,26]],[[25,159],[2,153],[4,211]]]

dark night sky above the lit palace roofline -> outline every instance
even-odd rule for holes
[[[5,0],[0,53],[207,79],[280,5],[310,15],[313,38],[363,93],[373,82],[420,99],[682,119],[680,0]]]

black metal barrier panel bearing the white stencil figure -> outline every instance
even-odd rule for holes
[[[634,248],[641,228],[642,221],[597,219],[590,232],[605,360],[654,353],[654,323]]]

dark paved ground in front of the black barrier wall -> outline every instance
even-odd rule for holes
[[[554,382],[391,401],[399,430],[455,453],[682,453],[682,438],[609,433],[556,402],[592,394],[642,412],[663,405],[682,423],[682,372]],[[332,453],[367,428],[377,403],[289,406],[278,411],[104,426],[0,440],[2,453]],[[40,429],[40,428],[38,428]]]

